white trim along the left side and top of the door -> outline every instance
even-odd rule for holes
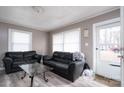
[[[96,55],[97,55],[96,53],[96,27],[102,26],[105,24],[115,23],[115,22],[120,22],[120,17],[93,24],[93,36],[92,36],[93,39],[92,40],[93,40],[93,71],[94,72],[96,72],[96,61],[97,61],[96,59]]]

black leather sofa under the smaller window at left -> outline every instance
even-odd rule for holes
[[[21,64],[31,64],[34,62],[40,63],[41,55],[36,54],[36,51],[27,52],[7,52],[3,58],[5,72],[7,74],[21,71]]]

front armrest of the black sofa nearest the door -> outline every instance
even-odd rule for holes
[[[75,61],[69,64],[68,70],[72,81],[76,80],[82,75],[84,64],[85,62],[83,61]]]

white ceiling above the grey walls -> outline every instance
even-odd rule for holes
[[[114,6],[42,6],[37,13],[31,6],[1,6],[0,21],[52,31],[117,9]]]

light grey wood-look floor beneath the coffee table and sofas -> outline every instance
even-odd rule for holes
[[[26,75],[22,80],[23,74],[24,72],[17,72],[7,75],[4,71],[0,71],[0,87],[29,87],[30,78]],[[47,83],[42,76],[35,76],[33,87],[107,87],[97,81],[87,80],[83,77],[80,77],[75,82],[70,82],[52,72],[48,72],[46,76],[49,79]]]

